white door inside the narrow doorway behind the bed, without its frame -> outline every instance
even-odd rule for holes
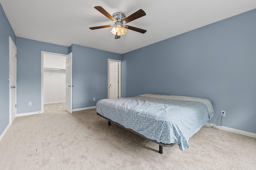
[[[110,95],[109,98],[119,98],[119,89],[118,89],[118,62],[110,63],[110,75],[109,75],[109,89]]]

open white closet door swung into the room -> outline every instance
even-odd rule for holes
[[[66,56],[66,110],[72,113],[72,53]]]

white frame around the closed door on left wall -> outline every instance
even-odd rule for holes
[[[9,36],[9,113],[10,113],[10,116],[9,116],[9,123],[10,125],[12,124],[12,89],[10,88],[11,87],[11,80],[12,80],[12,77],[11,77],[11,63],[12,63],[12,43],[14,44],[14,46],[16,47],[14,41],[12,40],[12,38]],[[16,78],[17,78],[17,47],[16,47]],[[16,79],[16,82],[15,82],[15,104],[17,104],[17,79]],[[17,106],[17,105],[16,105]],[[17,116],[17,107],[15,107],[15,116],[14,118]]]

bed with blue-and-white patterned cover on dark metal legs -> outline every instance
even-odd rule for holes
[[[102,99],[97,115],[159,144],[180,150],[189,148],[188,140],[213,117],[210,100],[186,96],[143,94],[130,98]]]

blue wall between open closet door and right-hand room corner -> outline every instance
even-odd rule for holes
[[[73,53],[72,107],[96,106],[98,100],[108,98],[108,59],[122,60],[122,55],[74,44],[70,51]]]

